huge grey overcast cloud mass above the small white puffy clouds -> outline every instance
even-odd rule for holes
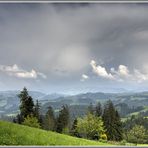
[[[147,4],[0,4],[0,64],[16,63],[24,69],[41,71],[48,78],[38,85],[47,89],[51,88],[49,84],[82,85],[79,82],[82,74],[92,75],[89,65],[92,59],[107,71],[111,66],[117,69],[127,65],[129,71],[146,72],[147,7]],[[2,83],[6,76],[0,76]],[[36,85],[34,81],[28,83]],[[105,83],[100,80],[100,85]],[[85,85],[95,83],[89,79]]]

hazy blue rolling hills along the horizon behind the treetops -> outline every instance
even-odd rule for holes
[[[0,91],[0,116],[15,115],[18,113],[20,100],[18,94],[20,91]],[[46,112],[48,106],[52,106],[55,110],[59,110],[64,104],[71,107],[72,110],[77,108],[87,108],[92,103],[105,103],[112,100],[115,105],[119,106],[126,103],[129,107],[148,106],[148,92],[127,92],[127,93],[103,93],[103,92],[87,92],[77,95],[64,94],[45,94],[38,91],[29,91],[29,95],[41,103],[41,111]],[[119,105],[118,105],[119,104]],[[81,107],[80,107],[81,106]],[[83,111],[82,111],[83,112]]]

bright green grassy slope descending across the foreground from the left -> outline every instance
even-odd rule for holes
[[[0,145],[109,145],[0,121]]]

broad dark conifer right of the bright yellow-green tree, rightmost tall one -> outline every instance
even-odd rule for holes
[[[122,140],[122,123],[113,103],[109,100],[103,112],[103,122],[108,140]]]

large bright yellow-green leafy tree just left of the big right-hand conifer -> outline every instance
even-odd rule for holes
[[[104,133],[102,119],[90,113],[84,118],[78,118],[77,131],[83,138],[99,139]]]

